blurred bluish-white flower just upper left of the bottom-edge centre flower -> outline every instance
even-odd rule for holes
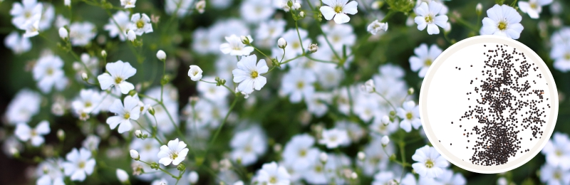
[[[267,139],[261,128],[252,127],[234,134],[229,146],[232,147],[232,159],[248,166],[254,164],[258,157],[265,153]]]

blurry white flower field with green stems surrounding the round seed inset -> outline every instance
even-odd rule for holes
[[[0,184],[570,184],[570,2],[0,0]],[[462,39],[516,39],[559,90],[527,164],[477,174],[418,95]]]

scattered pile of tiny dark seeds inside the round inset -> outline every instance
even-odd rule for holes
[[[484,65],[485,70],[479,78],[474,78],[475,81],[468,82],[475,87],[472,92],[466,92],[467,97],[477,94],[480,97],[473,97],[476,104],[470,105],[459,120],[477,120],[470,131],[464,129],[462,132],[466,139],[475,142],[475,146],[469,147],[473,150],[470,161],[491,166],[505,164],[509,157],[529,151],[522,149],[521,142],[541,138],[541,128],[546,125],[544,107],[550,108],[550,105],[543,105],[546,104],[544,90],[532,89],[529,80],[524,79],[532,78],[529,75],[531,69],[538,69],[534,63],[527,62],[524,53],[516,48],[509,49],[507,45],[484,47],[486,60],[480,65]],[[541,74],[536,76],[542,78]],[[532,83],[536,84],[534,80]],[[522,100],[523,97],[528,98]],[[521,133],[526,129],[531,129],[532,135]]]

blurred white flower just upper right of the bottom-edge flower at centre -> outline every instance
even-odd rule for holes
[[[318,149],[313,147],[315,139],[309,134],[299,134],[291,138],[283,150],[285,164],[295,171],[304,171],[317,162]]]

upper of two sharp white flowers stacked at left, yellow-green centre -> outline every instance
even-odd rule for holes
[[[135,89],[135,85],[125,81],[137,73],[137,69],[133,68],[130,63],[123,63],[123,61],[118,60],[115,63],[107,63],[105,68],[109,73],[103,73],[97,77],[102,90],[107,90],[114,85],[119,88],[121,93],[127,94],[130,90]]]

